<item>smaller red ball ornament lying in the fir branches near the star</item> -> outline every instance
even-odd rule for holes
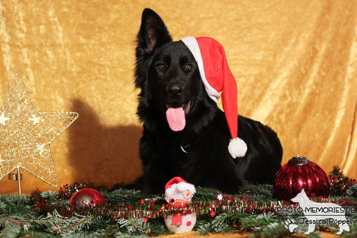
[[[78,208],[92,208],[98,205],[106,204],[103,195],[95,189],[81,189],[73,194],[69,201],[69,206]]]

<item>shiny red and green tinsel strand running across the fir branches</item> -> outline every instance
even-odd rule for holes
[[[355,184],[355,180],[345,177],[340,171],[341,169],[334,166],[334,170],[330,172],[330,183],[339,184],[339,188],[349,187]],[[337,180],[336,180],[337,179]],[[336,184],[335,184],[336,185]],[[68,199],[75,192],[83,188],[93,188],[93,181],[84,180],[81,182],[73,183],[70,186],[67,184],[61,188],[58,199]],[[344,191],[345,191],[344,190]],[[334,191],[331,191],[333,193]],[[341,191],[338,191],[341,192]],[[41,198],[40,192],[36,191],[32,194],[32,199],[35,203],[35,209],[57,209],[62,216],[70,216],[71,213],[78,213],[80,215],[107,216],[112,220],[120,218],[158,218],[166,217],[172,214],[190,214],[196,213],[197,215],[209,214],[215,216],[221,213],[247,213],[247,214],[262,214],[262,213],[275,213],[276,208],[298,207],[298,204],[290,201],[249,201],[247,197],[234,197],[225,195],[222,200],[212,201],[192,201],[184,207],[174,207],[171,203],[168,204],[154,204],[153,201],[147,203],[147,200],[141,199],[136,204],[107,204],[105,206],[92,207],[89,209],[78,209],[76,207],[69,207],[68,205],[50,205],[48,199]],[[332,202],[344,206],[353,206],[357,204],[356,200],[348,197],[338,199],[328,199],[323,197],[312,197],[315,202]],[[145,202],[146,201],[146,202]],[[50,206],[50,208],[48,208]]]

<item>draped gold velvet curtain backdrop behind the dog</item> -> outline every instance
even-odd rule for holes
[[[50,144],[59,187],[22,171],[22,191],[142,173],[135,39],[144,8],[174,40],[222,43],[238,85],[239,114],[272,127],[283,165],[298,155],[357,178],[357,1],[0,2],[0,107],[19,72],[39,112],[77,112]],[[221,107],[221,104],[220,104]],[[0,194],[17,182],[0,180]]]

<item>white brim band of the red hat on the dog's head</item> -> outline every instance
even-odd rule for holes
[[[205,70],[203,69],[203,61],[202,61],[201,51],[199,49],[197,40],[192,36],[187,36],[187,37],[181,38],[181,41],[184,42],[185,45],[190,49],[193,57],[195,58],[195,60],[197,62],[199,74],[201,75],[201,80],[202,80],[203,85],[205,86],[207,94],[212,98],[212,100],[214,100],[217,103],[220,94],[219,94],[219,92],[217,92],[217,90],[215,90],[208,83],[208,81],[206,79]]]

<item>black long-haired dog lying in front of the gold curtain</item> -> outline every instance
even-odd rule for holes
[[[172,41],[162,19],[150,9],[143,11],[137,37],[143,191],[163,193],[166,182],[175,176],[231,194],[248,181],[272,184],[283,154],[276,133],[239,116],[238,136],[248,149],[245,156],[233,158],[227,150],[231,135],[225,115],[207,94],[189,48]],[[169,127],[168,107],[183,107],[183,130]]]

